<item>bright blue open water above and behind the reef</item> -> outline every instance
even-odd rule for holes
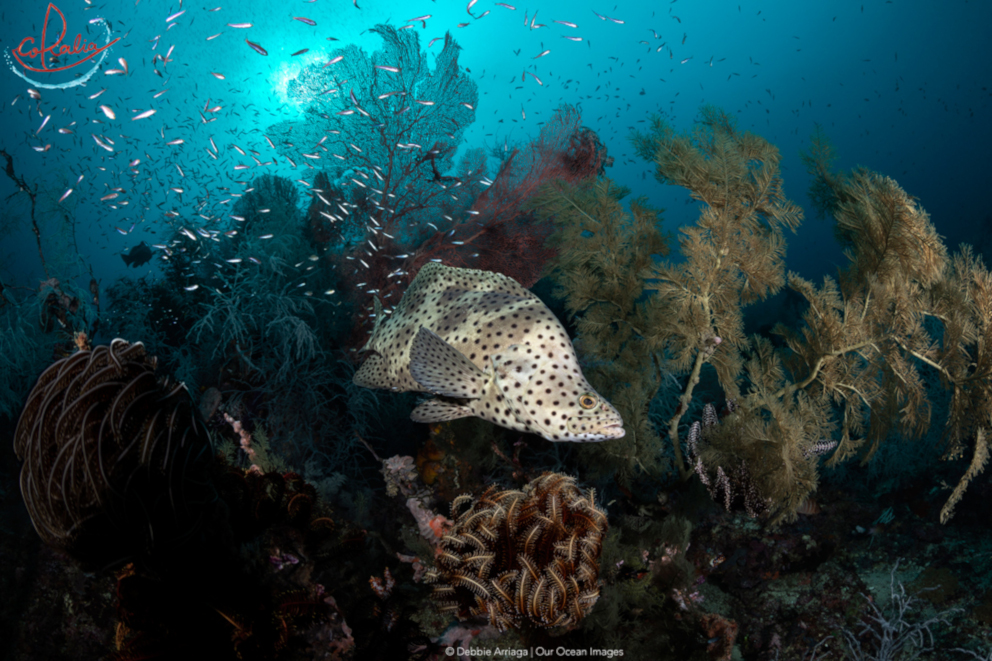
[[[798,151],[808,145],[819,123],[836,146],[838,167],[865,165],[897,178],[929,211],[949,246],[974,243],[989,214],[981,194],[989,185],[984,154],[992,140],[987,121],[992,58],[986,45],[992,7],[987,3],[544,3],[520,4],[515,11],[478,4],[472,8],[476,16],[491,12],[482,19],[457,3],[444,4],[361,2],[357,9],[319,1],[279,11],[272,3],[245,2],[209,12],[187,3],[186,12],[168,27],[165,19],[181,10],[179,4],[101,3],[86,9],[65,3],[60,9],[68,22],[66,42],[83,32],[104,43],[101,25],[88,23],[96,17],[108,19],[113,37],[121,40],[85,85],[39,88],[40,104],[28,98],[32,85],[4,67],[2,144],[18,171],[49,195],[57,199],[73,188],[66,202],[72,207],[80,253],[93,262],[99,279],[110,279],[124,272],[124,264],[112,255],[141,240],[158,243],[160,209],[192,211],[197,200],[209,199],[211,193],[216,197],[219,186],[244,178],[246,173],[231,169],[231,159],[214,161],[205,153],[209,138],[225,156],[235,156],[231,146],[239,144],[260,151],[265,162],[274,155],[264,140],[266,127],[299,116],[300,108],[284,96],[287,78],[333,47],[353,43],[367,51],[377,49],[377,37],[365,31],[376,23],[401,26],[430,14],[426,28],[420,23],[412,28],[421,43],[450,31],[463,49],[460,64],[471,70],[479,86],[476,120],[465,133],[464,146],[525,141],[559,104],[575,104],[616,158],[608,175],[667,208],[669,228],[693,221],[694,207],[683,206],[684,192],[652,180],[648,164],[633,157],[627,136],[654,112],[687,129],[704,103],[735,114],[741,128],[778,146],[786,193],[801,205],[808,205],[808,180]],[[594,11],[623,24],[600,20]],[[530,28],[535,12],[537,23],[546,27]],[[25,37],[40,39],[41,3],[7,6],[2,14],[5,49]],[[296,15],[316,25],[293,20]],[[54,18],[51,22],[58,25]],[[235,29],[228,23],[252,27]],[[468,25],[459,28],[460,23]],[[261,44],[268,56],[252,51],[246,39]],[[428,52],[438,52],[442,44]],[[170,61],[157,63],[159,77],[152,60],[172,47]],[[310,50],[291,57],[303,48]],[[545,49],[551,52],[535,60]],[[118,58],[128,61],[129,74],[105,75],[106,69],[119,68]],[[686,58],[691,59],[682,63]],[[61,74],[37,73],[32,79],[65,82],[66,74],[87,70],[87,64]],[[524,71],[536,74],[544,85],[530,76],[521,82]],[[88,98],[104,89],[97,99]],[[163,89],[168,91],[154,98]],[[202,124],[198,111],[208,102],[222,109],[208,113],[215,122]],[[102,104],[115,110],[116,121],[98,109]],[[149,109],[156,114],[131,121]],[[51,120],[36,133],[46,115]],[[70,126],[72,134],[57,132]],[[99,147],[92,133],[120,137],[115,152]],[[184,143],[164,145],[175,138]],[[46,152],[32,150],[46,145]],[[133,159],[140,163],[129,174]],[[248,163],[253,165],[249,175],[267,172],[295,179],[300,174],[281,159],[264,168]],[[85,178],[74,185],[79,175]],[[121,184],[128,189],[121,196],[127,206],[100,202]],[[184,188],[181,201],[170,193],[172,186]],[[14,192],[12,183],[2,180],[0,191],[7,198]],[[5,282],[31,282],[40,276],[40,265],[24,209],[13,200],[7,209],[0,274]],[[114,229],[127,231],[132,224],[127,236]],[[823,246],[828,237],[827,224],[809,219],[791,238],[790,268],[807,277],[832,272],[840,254],[829,244]],[[156,266],[152,262],[145,268]]]

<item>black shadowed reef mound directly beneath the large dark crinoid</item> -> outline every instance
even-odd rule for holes
[[[114,659],[323,658],[354,648],[351,629],[319,575],[338,526],[294,473],[218,466],[212,530],[196,551],[117,573]],[[224,512],[223,516],[221,512]]]

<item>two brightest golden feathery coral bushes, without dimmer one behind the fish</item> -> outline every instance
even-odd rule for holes
[[[791,518],[816,487],[807,451],[831,438],[835,412],[840,442],[830,461],[863,446],[867,461],[890,435],[912,437],[928,427],[921,370],[936,370],[953,391],[948,456],[976,438],[971,468],[942,512],[946,521],[985,463],[981,431],[992,422],[992,276],[980,260],[967,247],[949,259],[927,213],[894,180],[861,168],[831,172],[833,152],[817,134],[805,157],[814,200],[836,220],[850,264],[820,287],[786,277],[781,229],[794,228],[801,215],[781,194],[773,147],[713,109],[703,110],[691,135],[677,136],[657,120],[652,135],[635,135],[634,144],[655,162],[659,180],[688,188],[706,205],[683,232],[686,264],[650,274],[659,280],[650,339],[689,371],[681,411],[704,363],[737,400],[732,438],[721,434],[731,442],[713,463],[744,462],[762,498],[774,503],[775,519]],[[787,350],[745,340],[741,306],[785,282],[809,303],[799,328],[774,331]],[[927,318],[942,325],[940,337],[928,333]],[[723,339],[715,351],[702,345],[711,333]],[[669,435],[681,467],[679,419],[670,420]]]

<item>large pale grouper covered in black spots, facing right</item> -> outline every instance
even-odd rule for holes
[[[366,388],[436,395],[416,422],[468,416],[549,441],[605,441],[623,420],[582,375],[558,319],[500,273],[431,262],[393,314],[376,300],[370,355],[354,381]]]

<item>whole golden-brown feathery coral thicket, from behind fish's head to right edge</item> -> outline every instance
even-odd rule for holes
[[[613,232],[639,227],[640,202],[626,219],[618,204],[597,207],[581,191],[558,185],[544,190],[538,210],[559,227],[591,228],[553,237],[562,247],[552,275],[579,317],[583,351],[614,361],[610,369],[623,371],[627,389],[646,396],[630,407],[645,417],[661,365],[679,377],[678,405],[665,431],[681,476],[693,472],[683,442],[707,365],[734,406],[697,439],[696,469],[701,459],[711,476],[719,469],[746,475],[754,502],[766,504],[762,512],[774,522],[794,518],[816,489],[818,456],[831,439],[837,445],[828,461],[836,464],[854,456],[868,461],[885,439],[926,431],[935,422],[929,378],[951,392],[946,420],[939,421],[945,458],[974,448],[941,513],[946,522],[987,460],[992,429],[992,276],[981,260],[968,246],[949,256],[926,211],[893,179],[863,168],[833,172],[832,150],[818,132],[803,156],[814,177],[811,197],[833,217],[849,264],[837,279],[809,282],[785,269],[785,230],[799,226],[802,211],[782,191],[773,145],[712,107],[689,132],[656,117],[632,142],[660,182],[682,186],[702,203],[698,221],[680,230],[682,260],[644,260],[636,245],[619,251],[625,259],[614,248],[598,262],[584,256],[602,242],[590,241],[604,235],[597,223],[612,223]],[[807,302],[797,327],[773,330],[784,347],[746,337],[744,306],[784,286]],[[625,348],[633,345],[639,348]],[[625,352],[637,360],[625,366]],[[652,364],[656,374],[645,368]],[[643,467],[647,451],[632,449],[636,441],[634,435],[619,443]]]

